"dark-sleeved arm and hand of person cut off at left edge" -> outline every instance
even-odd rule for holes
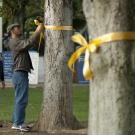
[[[2,89],[4,89],[5,88],[5,81],[4,81],[2,54],[0,54],[0,81],[1,81]]]

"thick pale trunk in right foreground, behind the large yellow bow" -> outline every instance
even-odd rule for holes
[[[134,0],[84,0],[90,37],[135,30]],[[91,55],[89,135],[135,135],[135,47],[107,43]]]

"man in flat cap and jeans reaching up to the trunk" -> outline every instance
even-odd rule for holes
[[[7,32],[11,36],[8,46],[13,57],[12,81],[15,88],[13,125],[11,129],[29,131],[29,128],[24,125],[25,109],[28,104],[28,72],[33,69],[28,49],[33,46],[43,29],[44,26],[41,24],[29,39],[21,39],[21,27],[18,23],[9,25],[7,28]]]

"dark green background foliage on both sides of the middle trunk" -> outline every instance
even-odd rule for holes
[[[85,25],[82,11],[82,0],[73,0],[73,26],[80,29]],[[44,16],[44,0],[4,0],[3,7],[0,9],[3,16],[3,31],[9,23],[18,21],[26,31],[33,30],[33,20],[37,16]]]

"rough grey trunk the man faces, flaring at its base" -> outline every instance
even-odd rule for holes
[[[72,0],[46,0],[45,25],[72,25]],[[40,131],[73,128],[72,77],[67,61],[72,51],[71,31],[45,31],[45,80]]]

